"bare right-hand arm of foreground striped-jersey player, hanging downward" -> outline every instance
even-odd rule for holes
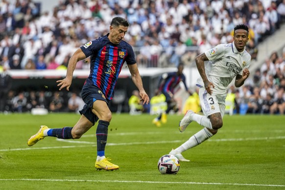
[[[139,69],[138,69],[138,65],[135,63],[133,65],[128,65],[128,68],[130,70],[130,73],[132,75],[132,80],[135,83],[135,85],[137,86],[137,88],[140,91],[140,96],[141,96],[141,101],[143,104],[148,104],[149,103],[149,97],[146,94],[145,90],[143,89],[143,85],[142,85],[142,77],[140,75]]]

